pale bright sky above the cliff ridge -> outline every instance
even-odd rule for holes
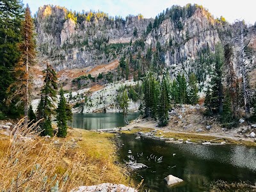
[[[31,12],[34,14],[38,7],[44,4],[65,6],[68,10],[81,12],[82,10],[100,10],[109,13],[111,16],[125,16],[141,13],[145,18],[154,18],[158,13],[170,8],[173,4],[184,6],[187,3],[201,4],[214,15],[223,15],[228,22],[236,19],[245,20],[254,24],[256,21],[256,1],[255,0],[23,0],[24,4],[29,4]]]

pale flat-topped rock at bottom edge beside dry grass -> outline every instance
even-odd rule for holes
[[[70,192],[137,192],[134,188],[129,188],[123,184],[102,183],[97,186],[80,186]]]

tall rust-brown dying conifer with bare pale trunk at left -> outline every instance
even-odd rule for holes
[[[35,39],[33,36],[33,20],[27,4],[25,20],[22,22],[22,43],[19,45],[21,52],[19,62],[15,65],[16,81],[10,85],[8,92],[12,93],[8,100],[11,102],[14,97],[19,98],[19,104],[24,106],[24,124],[28,124],[28,111],[30,100],[29,68],[35,63]]]

